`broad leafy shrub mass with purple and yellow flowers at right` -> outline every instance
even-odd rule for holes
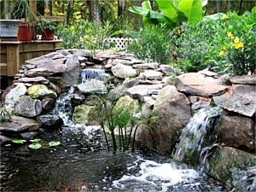
[[[255,12],[229,12],[220,20],[184,26],[172,49],[172,65],[183,73],[208,67],[218,73],[254,74]]]

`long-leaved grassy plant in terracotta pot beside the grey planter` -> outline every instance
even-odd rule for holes
[[[32,9],[27,0],[14,1],[13,8],[15,8],[15,11],[13,11],[14,18],[22,20],[18,32],[18,40],[31,41],[35,37],[36,10]]]

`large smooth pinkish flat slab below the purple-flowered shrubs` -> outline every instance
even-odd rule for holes
[[[230,89],[220,79],[207,77],[202,73],[185,73],[176,78],[177,90],[192,96],[220,96]]]

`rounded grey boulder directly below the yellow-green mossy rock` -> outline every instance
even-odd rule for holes
[[[42,112],[42,102],[30,96],[20,96],[15,103],[15,113],[24,117],[36,117]]]

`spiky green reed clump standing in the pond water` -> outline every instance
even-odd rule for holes
[[[148,118],[137,115],[138,108],[135,102],[125,103],[124,105],[112,93],[96,95],[95,97],[96,108],[90,113],[90,117],[102,125],[107,145],[107,133],[109,131],[113,143],[113,153],[117,151],[118,144],[120,150],[125,151],[131,148],[134,151],[137,127]],[[117,136],[119,137],[119,143],[116,139]]]

